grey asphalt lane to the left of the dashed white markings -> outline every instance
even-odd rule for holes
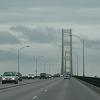
[[[55,86],[61,79],[41,80],[28,85],[0,90],[0,100],[32,100],[34,96],[45,92],[46,89]]]

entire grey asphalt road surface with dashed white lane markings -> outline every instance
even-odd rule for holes
[[[55,78],[0,90],[0,100],[100,100],[100,94],[74,78]]]

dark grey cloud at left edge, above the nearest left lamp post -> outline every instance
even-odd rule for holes
[[[0,44],[17,44],[20,41],[8,31],[0,31]]]

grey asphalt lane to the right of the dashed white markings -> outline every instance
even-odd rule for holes
[[[100,100],[100,94],[78,80],[62,80],[55,88],[41,94],[36,100]]]

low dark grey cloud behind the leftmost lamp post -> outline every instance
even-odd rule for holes
[[[32,56],[31,55],[26,55],[25,52],[20,52],[20,63],[30,63],[33,62]],[[28,62],[27,62],[28,61]],[[0,50],[0,62],[14,62],[16,65],[18,63],[18,51],[11,49],[11,50]],[[29,64],[28,63],[28,64]]]

